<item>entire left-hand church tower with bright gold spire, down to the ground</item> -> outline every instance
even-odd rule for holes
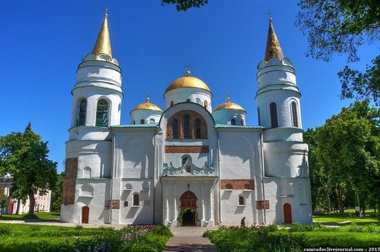
[[[66,142],[63,222],[99,221],[93,209],[108,209],[111,200],[110,127],[120,125],[123,93],[122,70],[112,55],[107,19],[105,14],[93,51],[79,64],[71,91],[73,110]],[[110,220],[109,211],[102,215],[103,223]]]

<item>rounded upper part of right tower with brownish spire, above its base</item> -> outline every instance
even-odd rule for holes
[[[257,83],[258,124],[265,127],[265,176],[307,177],[301,93],[292,61],[283,55],[272,19],[269,19],[265,59],[258,64]]]

